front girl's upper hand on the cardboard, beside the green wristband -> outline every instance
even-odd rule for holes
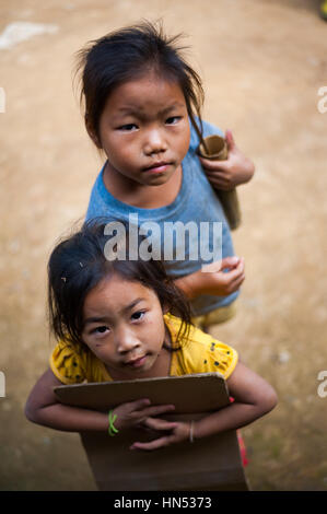
[[[149,399],[141,399],[119,405],[119,407],[113,409],[113,414],[117,414],[114,427],[117,430],[140,427],[144,424],[149,417],[171,412],[175,409],[174,405],[150,406],[150,404]]]

